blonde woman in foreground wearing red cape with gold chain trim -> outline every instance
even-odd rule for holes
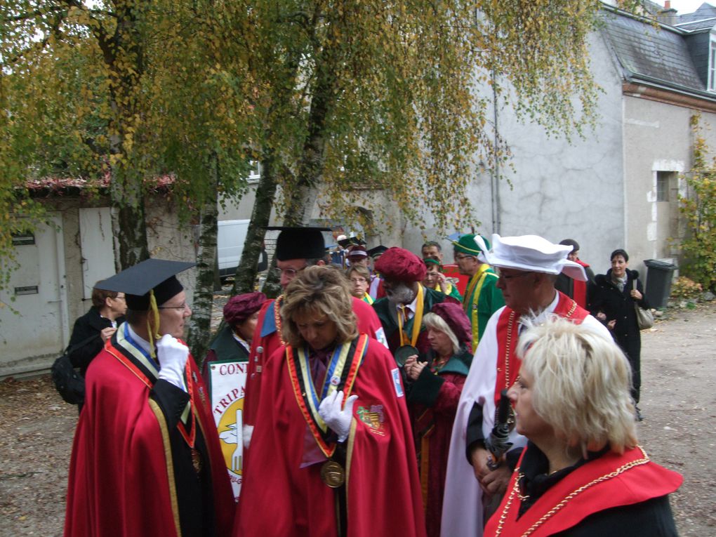
[[[614,342],[562,319],[520,337],[508,392],[529,442],[485,537],[677,536],[682,476],[637,445],[631,372]]]

